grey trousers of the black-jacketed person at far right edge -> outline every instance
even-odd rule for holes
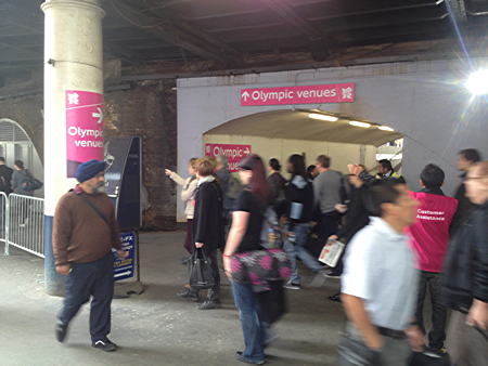
[[[466,314],[453,311],[449,324],[447,349],[453,366],[488,365],[488,342],[466,324]]]

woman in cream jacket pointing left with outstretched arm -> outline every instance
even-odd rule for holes
[[[193,231],[193,215],[195,212],[195,194],[196,194],[196,171],[195,171],[195,162],[197,158],[192,158],[188,165],[188,172],[190,177],[188,179],[183,179],[178,175],[176,172],[165,169],[166,175],[168,175],[171,180],[174,180],[178,185],[181,186],[181,195],[180,198],[184,202],[184,214],[187,217],[187,236],[184,239],[184,249],[191,254],[193,251],[193,240],[192,240],[192,231]],[[188,263],[189,258],[183,259],[183,264]]]

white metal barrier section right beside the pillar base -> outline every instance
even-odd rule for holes
[[[7,207],[5,254],[12,245],[44,258],[44,200],[10,195]]]

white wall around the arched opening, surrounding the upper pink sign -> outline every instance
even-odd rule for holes
[[[488,64],[488,58],[474,60]],[[488,157],[488,104],[462,87],[466,66],[457,61],[397,63],[318,70],[252,74],[178,80],[178,167],[202,155],[203,134],[229,120],[292,106],[243,107],[244,88],[355,82],[356,102],[299,105],[345,113],[390,126],[406,135],[403,173],[412,187],[423,166],[447,173],[446,192],[459,183],[457,152],[478,148]],[[181,205],[179,206],[181,212]]]

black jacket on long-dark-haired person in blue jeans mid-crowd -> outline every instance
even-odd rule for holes
[[[295,175],[286,184],[286,217],[291,222],[307,223],[313,219],[313,185],[307,179]],[[298,212],[299,218],[294,218],[293,213]]]

